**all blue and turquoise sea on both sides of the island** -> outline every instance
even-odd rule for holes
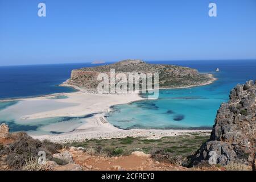
[[[256,80],[256,60],[148,62],[196,68],[202,73],[212,73],[218,80],[213,84],[195,88],[160,90],[158,100],[115,105],[113,112],[106,116],[114,126],[122,129],[208,129],[214,123],[220,104],[228,101],[230,90],[247,80]],[[0,67],[0,99],[75,92],[76,90],[72,88],[58,85],[70,77],[72,69],[93,66],[96,64]],[[216,68],[219,68],[220,72],[216,72]],[[15,104],[16,101],[0,102],[0,113],[5,115],[5,109]],[[22,130],[34,133],[40,128],[49,128],[48,123],[52,125],[57,122],[63,123],[61,129],[51,133],[67,132],[69,131],[67,127],[75,125],[74,123],[78,123],[79,119],[86,120],[86,116],[75,120],[67,117],[49,118],[24,125],[15,121],[15,118],[9,117],[10,113],[6,115],[8,117],[1,118],[0,114],[0,123],[9,123],[11,131]]]

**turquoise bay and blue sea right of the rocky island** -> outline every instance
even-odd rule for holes
[[[207,129],[230,90],[238,83],[256,80],[256,61],[168,61],[213,73],[213,84],[187,89],[160,90],[158,100],[113,106],[108,121],[122,129]],[[220,72],[215,72],[220,68]]]

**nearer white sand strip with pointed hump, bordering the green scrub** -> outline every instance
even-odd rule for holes
[[[39,140],[50,140],[54,143],[83,142],[89,139],[112,139],[112,138],[142,138],[142,139],[160,139],[162,137],[175,137],[179,135],[189,135],[191,133],[200,133],[209,135],[212,130],[157,130],[157,129],[131,129],[122,130],[111,125],[104,118],[104,114],[96,114],[88,118],[87,122],[70,133],[58,135],[31,135],[32,138]]]

